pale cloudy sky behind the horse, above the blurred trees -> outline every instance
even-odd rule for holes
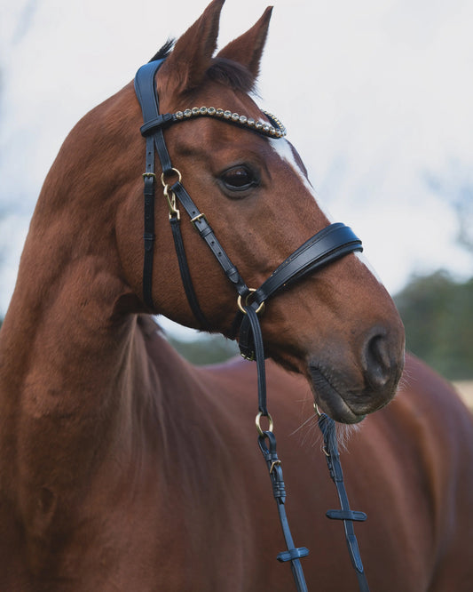
[[[67,132],[206,4],[0,0],[0,315]],[[321,204],[360,236],[391,293],[438,268],[473,276],[454,208],[467,200],[473,226],[473,3],[273,4],[260,103],[287,126]],[[220,46],[266,5],[226,0]]]

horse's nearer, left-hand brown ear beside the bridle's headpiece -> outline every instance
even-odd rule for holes
[[[177,92],[190,91],[201,84],[217,48],[218,23],[225,0],[213,0],[201,17],[188,28],[162,65]]]

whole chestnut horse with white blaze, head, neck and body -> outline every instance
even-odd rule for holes
[[[283,540],[256,444],[260,365],[194,367],[151,316],[162,314],[240,342],[257,317],[261,342],[252,329],[247,346],[268,357],[271,409],[260,429],[279,436],[308,589],[357,586],[340,524],[325,516],[336,493],[315,402],[340,424],[363,420],[347,428],[344,476],[368,514],[357,534],[370,587],[469,590],[469,412],[405,359],[398,312],[359,241],[330,225],[282,124],[256,105],[271,9],[216,54],[223,4],[150,62],[168,116],[143,124],[128,84],[76,124],[44,181],[0,340],[0,589],[294,589],[275,560]],[[175,169],[162,147],[154,158],[155,134]],[[193,224],[183,187],[200,208]],[[286,284],[281,274],[328,235],[349,236],[348,250]]]

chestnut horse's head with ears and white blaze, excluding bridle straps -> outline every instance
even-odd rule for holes
[[[187,120],[163,131],[177,169],[170,173],[176,178],[168,179],[166,173],[163,181],[169,187],[178,176],[240,276],[250,288],[257,288],[290,253],[326,228],[329,220],[317,204],[296,149],[279,137],[282,126],[268,119],[253,99],[271,9],[215,55],[223,4],[223,0],[214,0],[171,51],[168,47],[157,56],[165,58],[156,76],[160,112],[174,114],[175,121],[188,115]],[[168,200],[162,196],[158,162],[150,288],[153,310],[140,296],[145,140],[138,134],[138,102],[130,87],[122,93],[108,116],[115,131],[126,127],[125,121],[128,126],[126,140],[108,143],[110,149],[123,142],[128,148],[126,159],[117,156],[123,167],[121,176],[129,175],[130,189],[127,195],[121,191],[116,212],[122,270],[139,296],[137,310],[162,313],[177,323],[200,327],[185,297],[170,246],[169,195]],[[201,106],[206,106],[201,112],[205,116],[193,116],[200,115]],[[209,116],[217,110],[220,115],[236,114],[237,125],[229,124],[225,116]],[[125,116],[131,117],[132,124]],[[274,124],[276,134],[259,133],[256,124],[259,128]],[[130,137],[130,125],[136,137]],[[185,212],[181,218],[187,265],[207,328],[233,337],[234,288]],[[404,331],[390,295],[359,253],[351,252],[278,292],[265,307],[261,327],[267,354],[288,370],[304,374],[315,401],[335,420],[359,421],[394,396],[403,368]]]

